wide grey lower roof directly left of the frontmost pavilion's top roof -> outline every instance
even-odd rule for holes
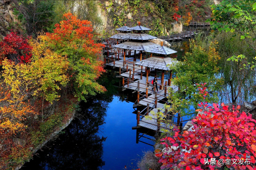
[[[116,48],[120,49],[128,49],[128,50],[138,50],[138,51],[146,51],[155,47],[158,47],[159,45],[155,43],[151,43],[149,41],[144,42],[136,42],[136,41],[126,41],[124,43],[114,45]]]

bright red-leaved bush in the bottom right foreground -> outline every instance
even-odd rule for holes
[[[206,96],[206,88],[200,89]],[[223,165],[235,170],[255,170],[256,158],[256,121],[252,115],[240,113],[240,106],[229,108],[223,103],[221,106],[207,102],[198,104],[202,111],[192,119],[193,131],[183,131],[174,128],[173,137],[161,139],[166,151],[156,150],[162,163],[162,168],[174,169],[175,166],[186,170],[214,170],[218,160],[250,159],[250,164]],[[177,147],[174,150],[171,147]],[[217,164],[204,164],[206,159],[216,159]]]

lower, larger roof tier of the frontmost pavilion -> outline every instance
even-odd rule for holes
[[[159,70],[170,70],[168,64],[175,64],[177,62],[178,61],[172,59],[171,57],[150,57],[135,64]]]

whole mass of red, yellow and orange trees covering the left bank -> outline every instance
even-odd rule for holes
[[[0,169],[29,160],[28,148],[67,121],[72,104],[106,91],[96,82],[105,70],[92,29],[68,13],[53,33],[32,39],[12,32],[0,42]]]

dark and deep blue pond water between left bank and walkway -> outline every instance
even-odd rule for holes
[[[64,129],[64,133],[48,142],[33,160],[24,164],[22,170],[137,168],[137,161],[143,151],[153,150],[153,147],[142,142],[136,143],[136,130],[132,130],[136,126],[133,109],[136,96],[120,92],[106,77],[102,81],[106,81],[107,94],[89,98],[86,103],[81,102],[76,119]],[[140,141],[154,145],[149,139]]]

